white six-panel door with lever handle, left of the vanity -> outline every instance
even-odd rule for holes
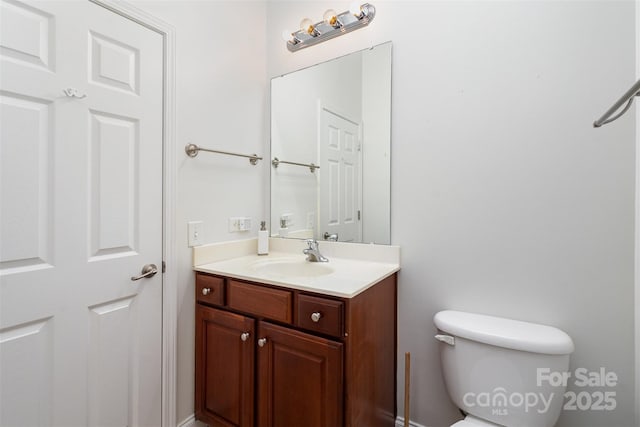
[[[162,36],[0,8],[0,425],[159,426]]]

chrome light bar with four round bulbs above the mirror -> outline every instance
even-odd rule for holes
[[[354,4],[346,12],[336,14],[333,9],[327,10],[323,20],[317,23],[309,18],[300,22],[300,29],[295,32],[284,31],[282,37],[287,41],[287,49],[296,52],[325,40],[341,36],[358,28],[366,27],[373,21],[376,9],[369,3]]]

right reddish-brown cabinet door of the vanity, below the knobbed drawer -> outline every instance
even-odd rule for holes
[[[258,426],[343,425],[342,344],[268,322],[257,337]]]

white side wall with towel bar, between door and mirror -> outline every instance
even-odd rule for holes
[[[194,275],[187,222],[204,221],[204,240],[253,238],[266,217],[262,190],[265,159],[200,153],[184,145],[268,156],[265,97],[268,91],[263,35],[265,3],[234,1],[134,1],[176,29],[176,158],[178,266],[177,422],[193,414]],[[238,17],[244,17],[241,27]],[[238,32],[239,28],[246,32]],[[249,30],[255,36],[249,34]],[[268,198],[268,197],[267,197]],[[251,232],[228,233],[227,219],[249,216]]]

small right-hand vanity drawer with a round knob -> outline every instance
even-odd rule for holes
[[[296,324],[336,337],[342,336],[344,303],[311,295],[298,295]]]

